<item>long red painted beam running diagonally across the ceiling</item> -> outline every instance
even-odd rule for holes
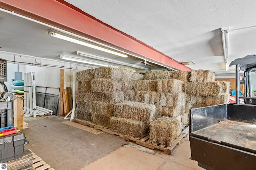
[[[0,8],[100,41],[128,53],[144,56],[178,70],[190,70],[187,66],[82,12],[64,0],[0,0]]]

